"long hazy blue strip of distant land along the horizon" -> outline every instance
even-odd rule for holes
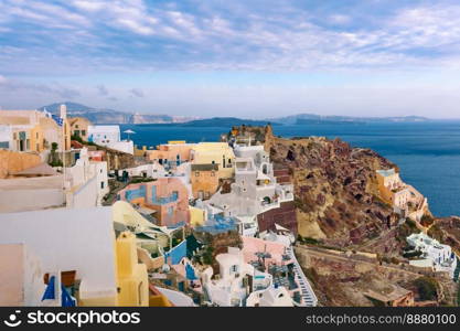
[[[110,108],[88,107],[77,103],[55,103],[38,108],[46,109],[52,114],[58,113],[60,105],[67,106],[67,114],[72,117],[85,117],[94,124],[169,124],[185,127],[231,127],[231,126],[264,126],[271,125],[312,125],[312,124],[366,124],[366,122],[426,122],[434,119],[420,116],[404,117],[353,117],[353,116],[323,116],[317,114],[297,114],[286,117],[247,119],[237,117],[199,118],[193,116],[173,116],[164,114],[139,114]]]

